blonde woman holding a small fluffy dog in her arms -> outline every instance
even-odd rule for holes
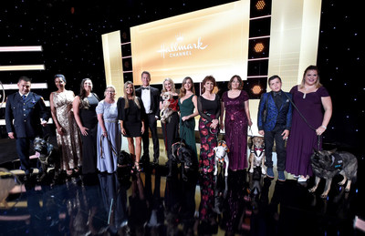
[[[172,142],[179,138],[179,115],[177,113],[179,110],[179,95],[176,93],[175,85],[173,84],[172,79],[169,77],[163,80],[161,95],[166,92],[169,92],[172,95],[172,98],[169,99],[169,101],[163,101],[161,97],[160,109],[169,107],[173,110],[172,116],[165,123],[162,122],[161,124],[163,141],[167,151],[167,158],[170,160],[172,155]]]

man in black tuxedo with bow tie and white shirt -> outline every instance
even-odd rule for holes
[[[155,87],[150,86],[151,75],[148,71],[143,71],[141,74],[142,86],[136,89],[136,96],[141,97],[143,107],[147,114],[145,120],[146,131],[148,127],[151,130],[153,142],[153,163],[158,164],[160,157],[160,144],[157,136],[157,120],[160,118],[160,91]],[[144,132],[142,135],[143,142],[143,156],[142,159],[150,159],[149,146],[149,132]]]

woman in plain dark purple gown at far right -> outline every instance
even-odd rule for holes
[[[293,109],[292,127],[287,139],[287,172],[300,175],[298,181],[307,181],[312,175],[310,156],[313,149],[318,149],[318,136],[327,129],[332,116],[332,101],[327,89],[319,83],[316,66],[307,67],[301,84],[293,87],[290,93],[310,127],[297,109]]]

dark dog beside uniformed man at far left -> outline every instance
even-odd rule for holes
[[[38,158],[43,173],[39,177],[39,181],[42,181],[47,176],[47,169],[48,167],[54,167],[55,168],[55,179],[57,179],[58,176],[58,165],[57,165],[57,151],[54,149],[54,146],[48,142],[48,139],[42,139],[40,137],[36,137],[33,143],[33,147],[36,151],[36,157]]]

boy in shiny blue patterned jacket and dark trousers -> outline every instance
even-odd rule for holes
[[[278,76],[268,78],[268,86],[271,92],[265,93],[260,99],[257,115],[258,133],[264,136],[268,178],[274,178],[272,151],[274,140],[277,155],[277,180],[285,181],[287,150],[285,140],[291,128],[292,105],[291,94],[281,90],[282,82]],[[290,99],[288,98],[290,97]]]

